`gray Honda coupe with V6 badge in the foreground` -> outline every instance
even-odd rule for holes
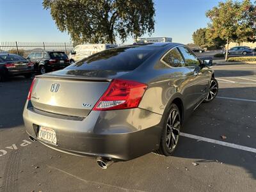
[[[95,157],[101,168],[149,152],[170,156],[191,112],[218,93],[211,65],[175,43],[98,52],[35,77],[26,131],[47,147]]]

